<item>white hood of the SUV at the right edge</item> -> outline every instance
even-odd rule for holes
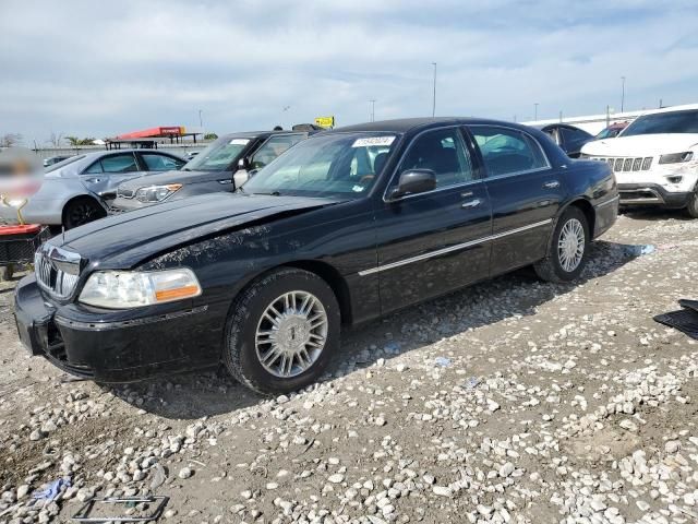
[[[659,156],[682,153],[698,146],[697,133],[638,134],[595,140],[585,144],[581,153],[591,156]]]

